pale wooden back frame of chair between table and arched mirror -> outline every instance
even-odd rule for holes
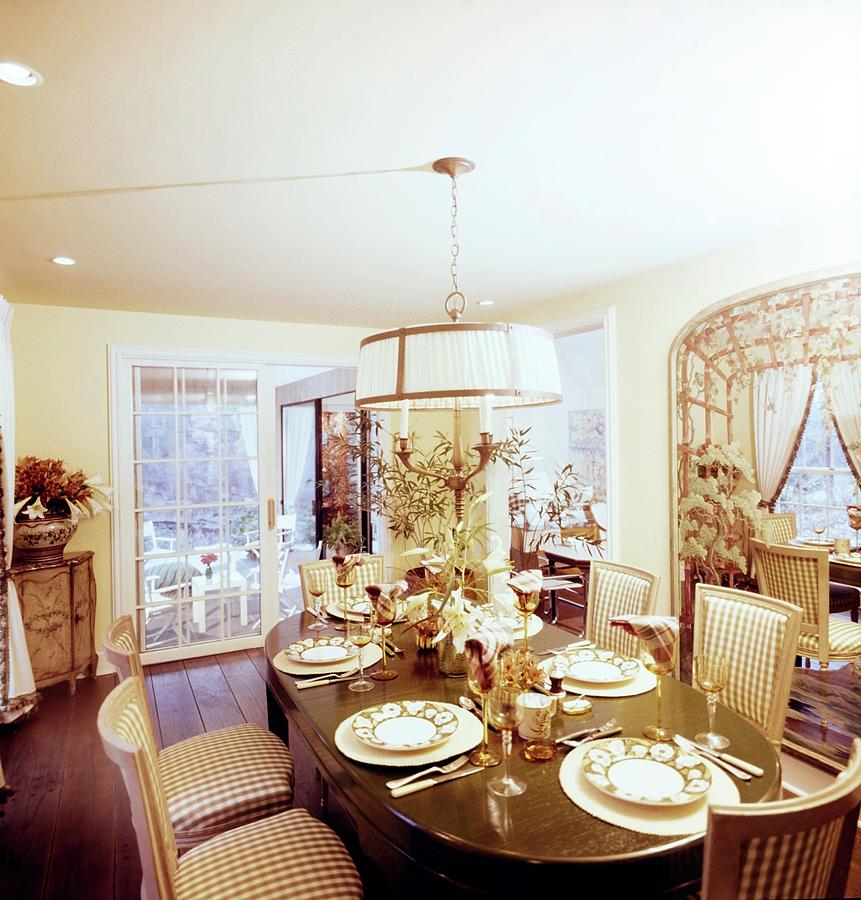
[[[758,728],[762,728],[766,737],[780,747],[783,739],[783,726],[786,721],[786,710],[789,706],[789,690],[792,686],[792,673],[795,668],[795,653],[798,647],[798,635],[801,628],[801,608],[784,600],[774,597],[764,597],[762,594],[754,594],[749,591],[740,591],[735,588],[719,587],[714,584],[698,584],[694,598],[694,655],[698,648],[702,647],[705,640],[704,629],[706,616],[703,605],[706,595],[727,600],[736,600],[750,606],[758,606],[771,612],[781,613],[786,617],[783,646],[778,654],[777,680],[771,697],[771,709],[768,722],[763,726],[759,722],[753,722]]]

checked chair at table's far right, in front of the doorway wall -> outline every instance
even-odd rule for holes
[[[614,616],[647,616],[655,609],[660,578],[643,569],[593,560],[586,604],[586,637],[599,647],[636,656],[640,642],[622,628],[612,628]]]

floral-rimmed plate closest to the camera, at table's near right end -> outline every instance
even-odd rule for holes
[[[708,793],[712,783],[701,757],[643,738],[592,741],[580,768],[604,793],[649,806],[693,803]]]

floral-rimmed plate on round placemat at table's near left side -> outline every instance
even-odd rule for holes
[[[397,700],[357,713],[353,734],[384,750],[424,750],[447,741],[457,731],[455,714],[430,700]]]

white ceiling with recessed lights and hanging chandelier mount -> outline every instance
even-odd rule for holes
[[[446,180],[307,176],[459,154],[462,288],[504,317],[857,206],[859,46],[854,0],[2,0],[45,81],[0,84],[0,291],[439,319]]]

